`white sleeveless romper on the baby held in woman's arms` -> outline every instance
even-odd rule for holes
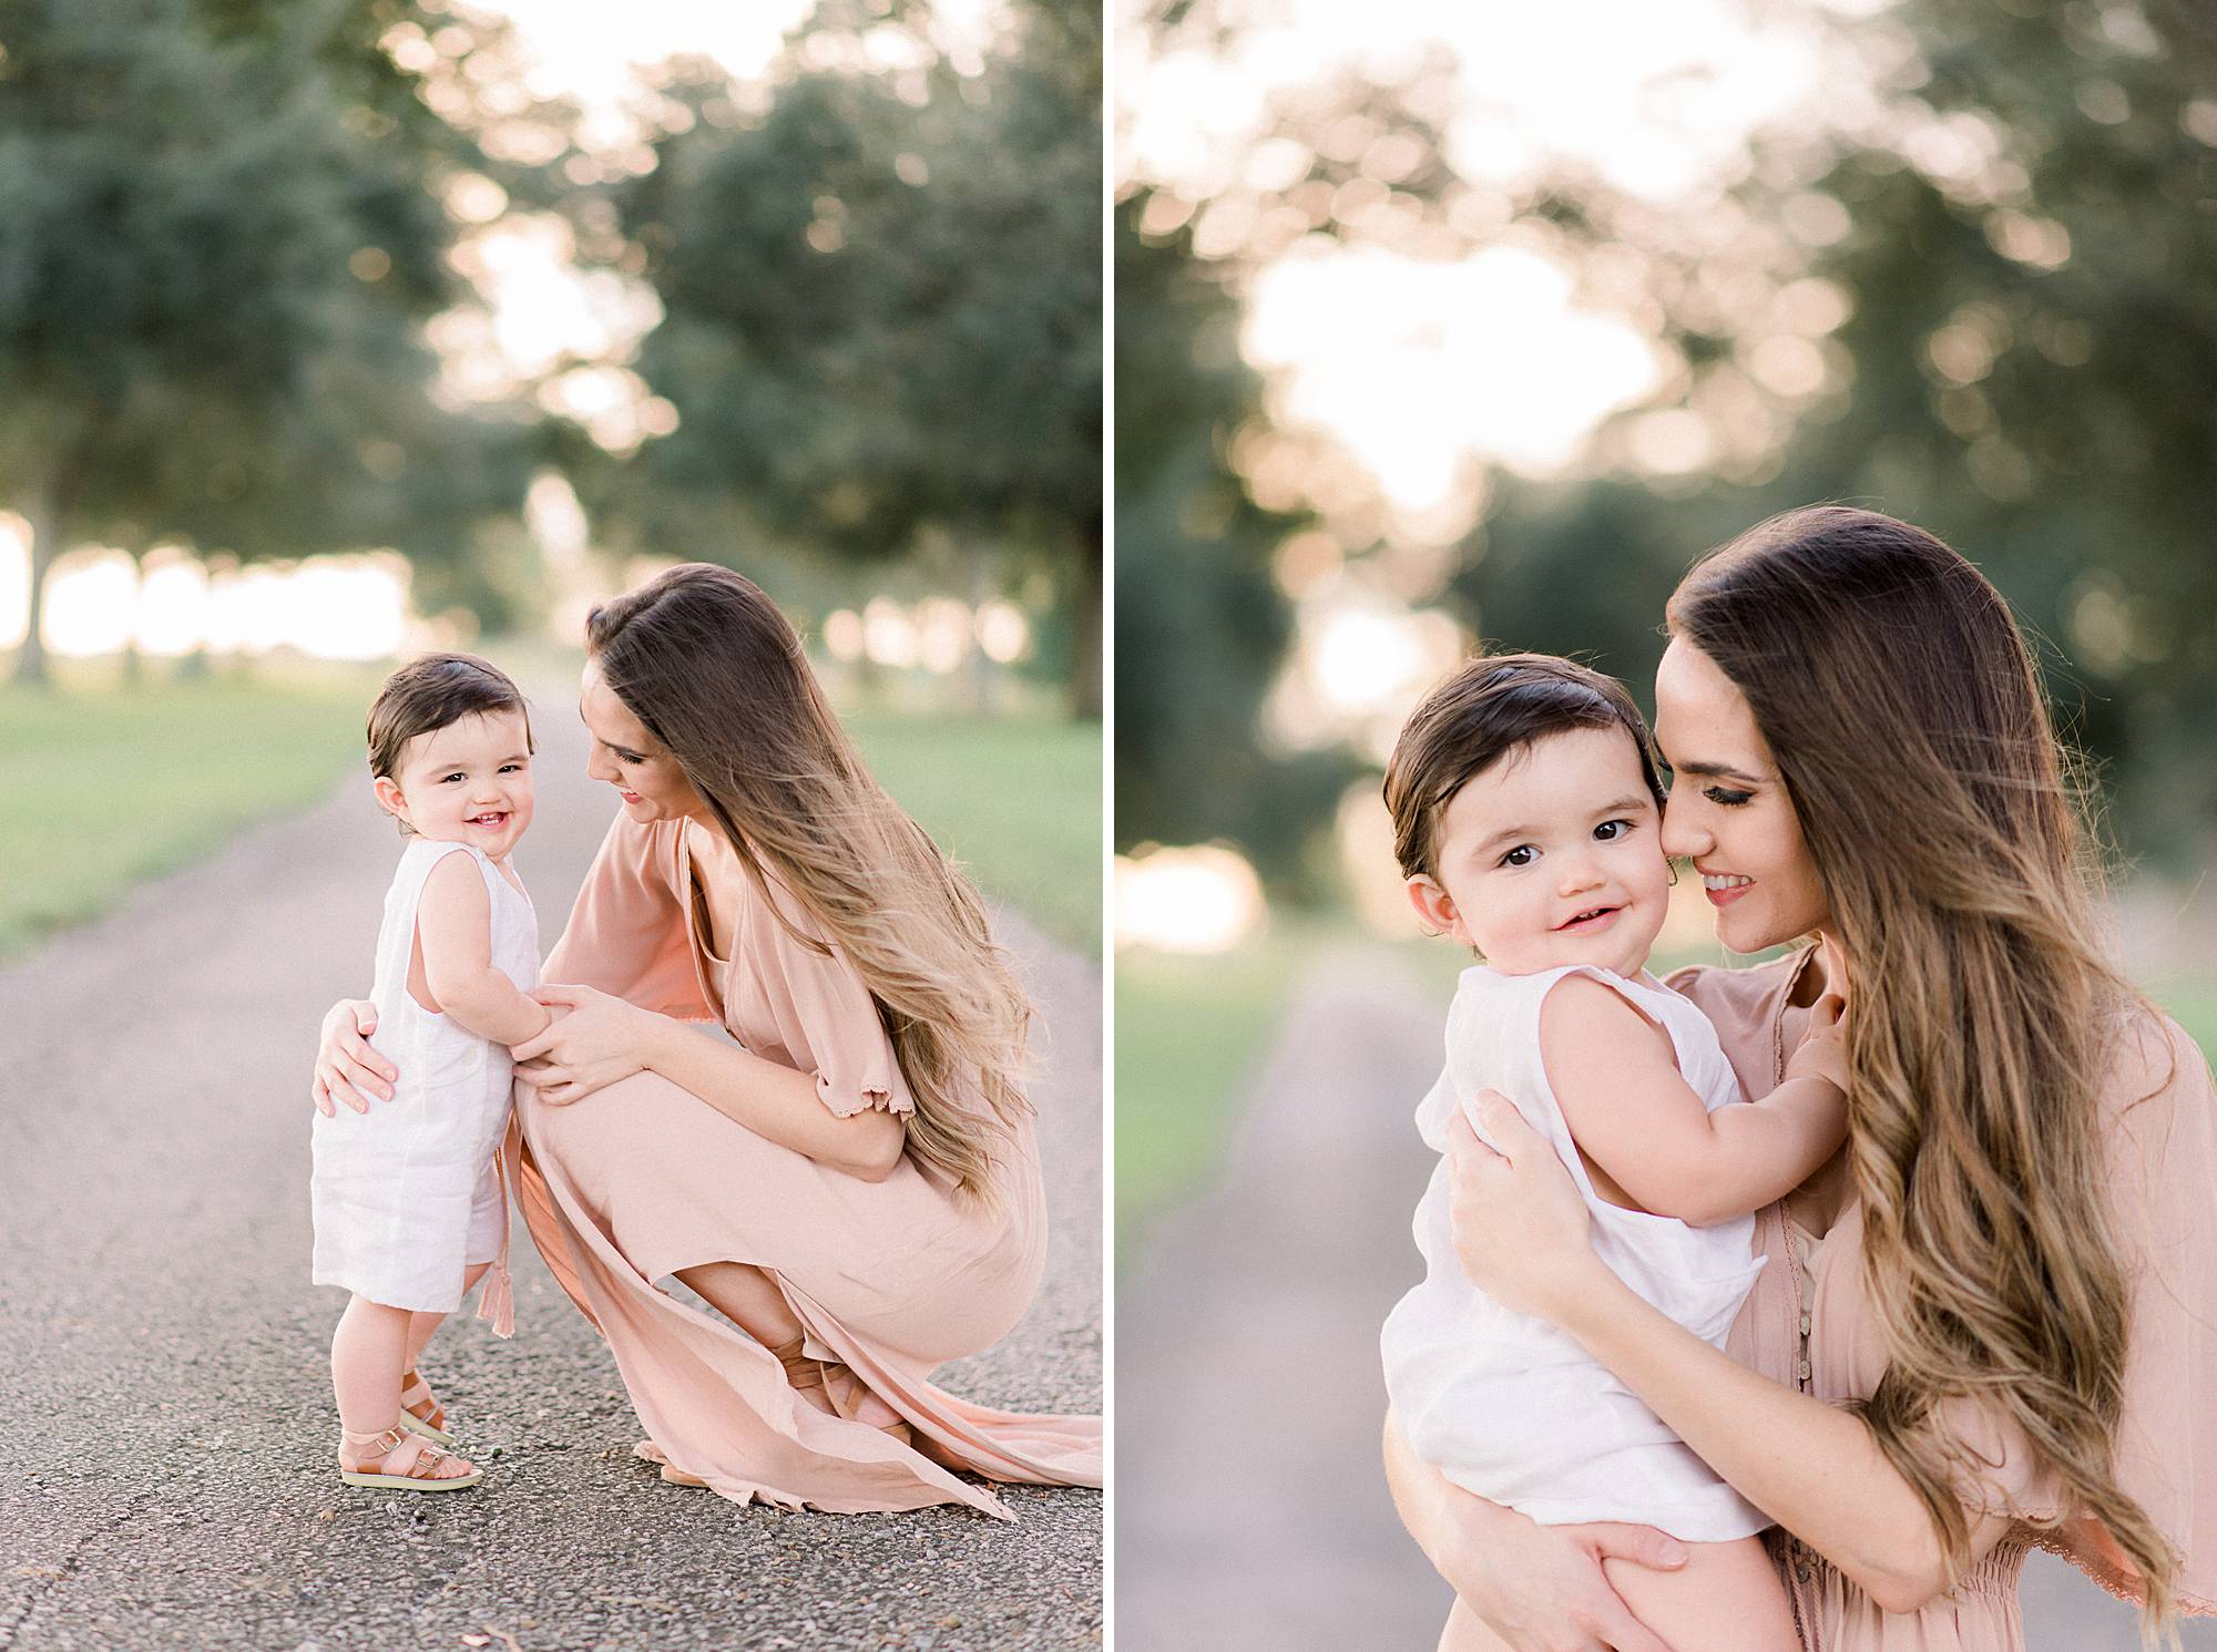
[[[1417,1129],[1445,1154],[1454,1107],[1470,1116],[1472,1098],[1488,1085],[1510,1096],[1579,1183],[1601,1260],[1647,1302],[1723,1349],[1763,1271],[1754,1216],[1687,1227],[1594,1194],[1539,1054],[1541,1003],[1565,974],[1594,977],[1661,1023],[1678,1072],[1709,1112],[1745,1105],[1716,1028],[1654,977],[1627,981],[1585,966],[1536,974],[1472,968],[1454,990],[1448,1067],[1419,1103]],[[1470,1123],[1477,1127],[1477,1118]],[[1501,1307],[1463,1276],[1450,1202],[1441,1158],[1414,1220],[1423,1284],[1401,1298],[1381,1335],[1386,1391],[1417,1457],[1543,1526],[1623,1519],[1689,1543],[1751,1537],[1769,1526],[1567,1333]]]

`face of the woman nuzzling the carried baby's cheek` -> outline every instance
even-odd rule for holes
[[[1816,861],[1756,713],[1685,638],[1672,638],[1656,667],[1654,733],[1676,771],[1663,848],[1700,873],[1716,939],[1734,952],[1760,952],[1829,930]]]

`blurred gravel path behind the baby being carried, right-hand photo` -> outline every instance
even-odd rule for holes
[[[1117,1302],[1117,1652],[1421,1652],[1450,1594],[1379,1466],[1379,1322],[1421,1276],[1410,1125],[1445,1003],[1348,948],[1286,1005],[1224,1174]],[[2049,1555],[2029,1652],[2137,1652],[2133,1612]],[[2217,1652],[2217,1623],[2182,1634]]]

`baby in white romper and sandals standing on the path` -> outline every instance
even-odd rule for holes
[[[532,729],[517,684],[466,653],[415,660],[370,706],[377,802],[408,848],[377,932],[377,1047],[392,1101],[315,1121],[315,1282],[353,1302],[330,1340],[339,1479],[463,1490],[483,1473],[439,1446],[443,1413],[417,1355],[492,1269],[479,1318],[512,1331],[508,1047],[550,1012],[539,919],[508,857],[532,824]]]

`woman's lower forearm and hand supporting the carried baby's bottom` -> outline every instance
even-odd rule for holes
[[[1514,1652],[1669,1652],[1601,1561],[1654,1570],[1685,1566],[1685,1548],[1654,1526],[1536,1526],[1514,1508],[1474,1497],[1417,1462],[1386,1413],[1386,1484],[1408,1535],[1457,1599]]]

